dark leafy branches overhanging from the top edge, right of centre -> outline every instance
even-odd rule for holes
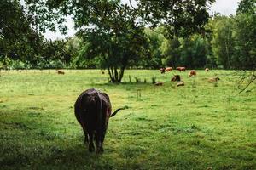
[[[189,37],[203,32],[209,14],[207,8],[215,0],[137,0],[137,13],[149,26],[165,26],[167,37]]]

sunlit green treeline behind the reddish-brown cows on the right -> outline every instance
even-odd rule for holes
[[[255,12],[235,16],[215,14],[201,34],[171,40],[166,39],[164,31],[160,29],[146,30],[151,42],[152,59],[144,60],[142,66],[159,68],[161,65],[184,65],[188,68],[255,70],[255,16]]]

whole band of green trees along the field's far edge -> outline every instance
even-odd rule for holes
[[[0,8],[3,9],[0,12],[0,69],[106,68],[106,62],[102,62],[104,56],[97,53],[102,48],[97,47],[112,41],[113,37],[98,37],[91,33],[84,38],[78,31],[74,37],[50,41],[33,28],[32,16],[26,14],[18,1],[6,1]],[[137,38],[132,42],[126,36],[115,40],[123,41],[121,47],[110,44],[105,49],[112,48],[111,55],[117,56],[129,48],[131,52],[127,55],[134,55],[134,59],[127,68],[186,66],[189,69],[253,70],[256,65],[255,26],[255,2],[241,1],[236,15],[214,14],[203,25],[202,31],[169,37],[164,25],[143,26],[139,32],[143,40]],[[65,32],[65,27],[61,29]],[[132,46],[136,43],[139,45]],[[112,59],[111,62],[118,61]]]

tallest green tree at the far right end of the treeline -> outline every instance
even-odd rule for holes
[[[235,18],[236,67],[256,68],[256,0],[242,0]]]

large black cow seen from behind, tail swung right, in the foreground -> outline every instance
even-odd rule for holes
[[[109,117],[126,108],[127,106],[119,108],[111,114],[112,107],[108,94],[94,88],[85,90],[79,95],[74,105],[74,112],[83,127],[84,143],[89,144],[89,151],[95,150],[93,144],[93,139],[95,139],[96,152],[103,152],[102,145],[107,132]]]

